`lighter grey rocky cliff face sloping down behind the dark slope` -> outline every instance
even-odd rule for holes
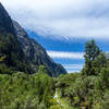
[[[45,65],[48,69],[48,73],[51,76],[58,76],[59,74],[65,74],[66,71],[61,64],[57,64],[52,59],[47,55],[46,50],[39,45],[35,39],[28,37],[26,32],[13,21],[15,27],[15,34],[17,35],[17,40],[23,46],[23,51],[28,58],[33,70],[36,72],[38,66]]]

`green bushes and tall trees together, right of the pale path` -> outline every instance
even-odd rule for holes
[[[57,78],[61,98],[77,109],[109,109],[109,59],[94,40],[86,44],[82,73]]]

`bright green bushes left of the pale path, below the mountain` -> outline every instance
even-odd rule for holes
[[[0,74],[0,107],[48,109],[53,95],[52,86],[52,78],[46,74]]]

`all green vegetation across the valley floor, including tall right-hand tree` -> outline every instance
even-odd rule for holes
[[[14,71],[0,58],[1,109],[109,109],[109,59],[94,40],[86,44],[80,73],[50,77],[40,65],[36,74]]]

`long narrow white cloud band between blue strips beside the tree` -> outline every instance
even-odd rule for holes
[[[47,51],[47,53],[56,59],[84,59],[83,52]]]

